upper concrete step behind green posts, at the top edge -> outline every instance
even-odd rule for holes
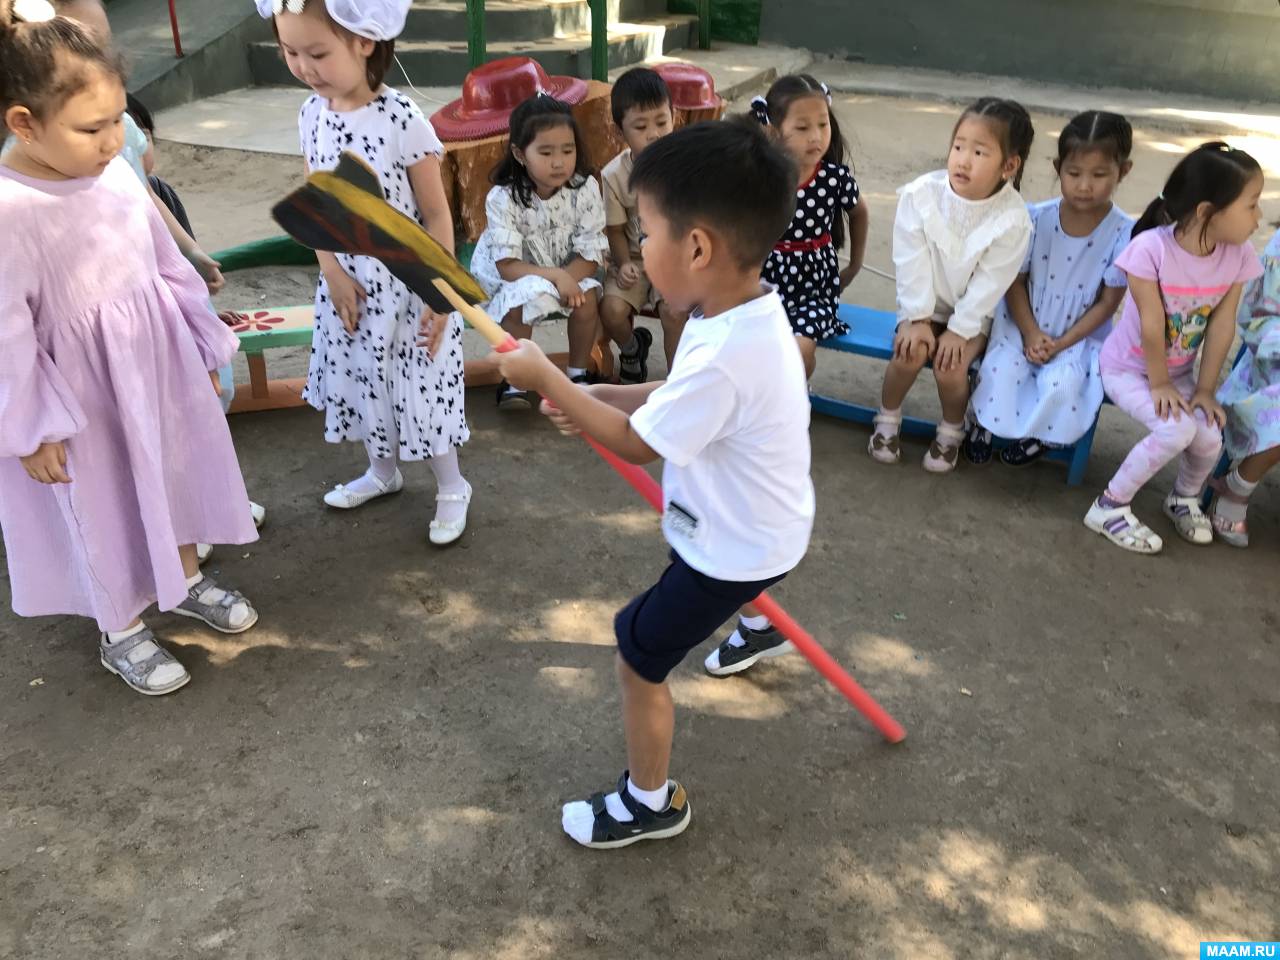
[[[609,23],[634,23],[667,13],[664,0],[609,0]],[[568,37],[591,29],[588,0],[488,0],[485,40],[511,42]],[[466,41],[466,0],[413,0],[404,23],[408,41]]]

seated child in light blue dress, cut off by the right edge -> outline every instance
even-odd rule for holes
[[[1262,253],[1266,271],[1240,301],[1240,339],[1244,355],[1217,392],[1226,408],[1226,453],[1230,474],[1213,480],[1210,521],[1217,539],[1233,547],[1249,545],[1244,525],[1249,497],[1280,463],[1280,232]]]

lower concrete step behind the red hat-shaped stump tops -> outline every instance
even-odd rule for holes
[[[613,23],[609,29],[609,68],[626,67],[654,56],[692,47],[698,41],[698,18],[671,14],[640,23]],[[591,35],[577,32],[566,37],[529,41],[490,42],[489,59],[529,56],[550,74],[590,77]],[[458,84],[470,69],[466,40],[406,41],[396,45],[408,81],[419,87]],[[248,45],[250,70],[259,86],[294,83],[274,42]],[[387,82],[406,83],[398,67]]]

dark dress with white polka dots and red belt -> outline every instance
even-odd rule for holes
[[[840,260],[831,230],[858,206],[858,180],[844,164],[823,160],[796,191],[796,212],[769,259],[764,279],[778,288],[797,337],[824,340],[847,333],[840,306]]]

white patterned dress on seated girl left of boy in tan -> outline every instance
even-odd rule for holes
[[[511,187],[494,187],[484,210],[488,223],[471,255],[471,271],[492,297],[485,305],[489,315],[500,321],[521,307],[526,324],[568,316],[570,308],[561,302],[554,283],[532,275],[503,280],[498,262],[524,260],[534,266],[562,268],[580,256],[603,264],[609,241],[604,236],[600,184],[588,177],[581,187],[561,187],[549,200],[534,193],[527,206]],[[600,289],[600,282],[589,276],[579,287],[590,293]]]

